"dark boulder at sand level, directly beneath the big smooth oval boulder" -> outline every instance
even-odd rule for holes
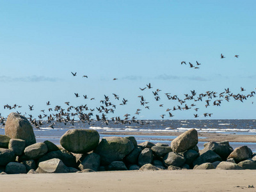
[[[80,170],[91,169],[97,172],[100,167],[100,156],[95,153],[88,154],[78,167]]]

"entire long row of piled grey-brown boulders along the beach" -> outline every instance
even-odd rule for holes
[[[99,141],[97,131],[72,129],[61,137],[59,148],[51,141],[35,143],[31,139],[34,134],[27,129],[26,118],[12,115],[8,122],[8,135],[0,135],[0,170],[8,174],[256,169],[256,155],[246,146],[233,150],[228,141],[211,141],[205,143],[205,148],[199,152],[195,129],[175,138],[170,146],[161,143],[155,145],[149,141],[137,144],[132,136],[106,137]],[[16,128],[13,129],[11,125]],[[29,136],[22,129],[28,131]]]

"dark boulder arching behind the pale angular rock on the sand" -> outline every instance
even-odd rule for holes
[[[68,167],[71,166],[71,167],[77,168],[76,157],[74,157],[73,154],[71,154],[65,149],[49,152],[44,156],[40,157],[37,163],[40,163],[42,161],[47,161],[53,158],[61,159],[61,161]]]

